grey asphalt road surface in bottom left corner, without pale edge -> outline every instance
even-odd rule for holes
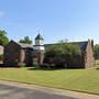
[[[77,98],[0,84],[0,99],[77,99]]]

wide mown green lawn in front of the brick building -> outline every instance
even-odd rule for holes
[[[99,95],[99,69],[9,69],[0,68],[0,79]]]

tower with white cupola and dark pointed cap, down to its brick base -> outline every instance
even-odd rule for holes
[[[33,46],[33,48],[34,48],[33,65],[41,66],[43,64],[43,59],[44,59],[45,47],[44,47],[44,38],[42,37],[42,35],[40,33],[35,37],[35,45]]]

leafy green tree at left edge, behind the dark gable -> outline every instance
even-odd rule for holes
[[[0,30],[0,45],[6,46],[9,43],[9,38],[7,37],[7,32]]]

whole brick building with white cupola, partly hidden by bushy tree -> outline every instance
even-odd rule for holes
[[[90,68],[95,66],[94,41],[74,42],[81,50],[81,57],[69,62],[68,67]],[[44,61],[44,53],[54,44],[44,44],[41,34],[35,37],[35,45],[21,44],[11,41],[4,47],[4,65],[16,66],[18,63],[40,66]]]

